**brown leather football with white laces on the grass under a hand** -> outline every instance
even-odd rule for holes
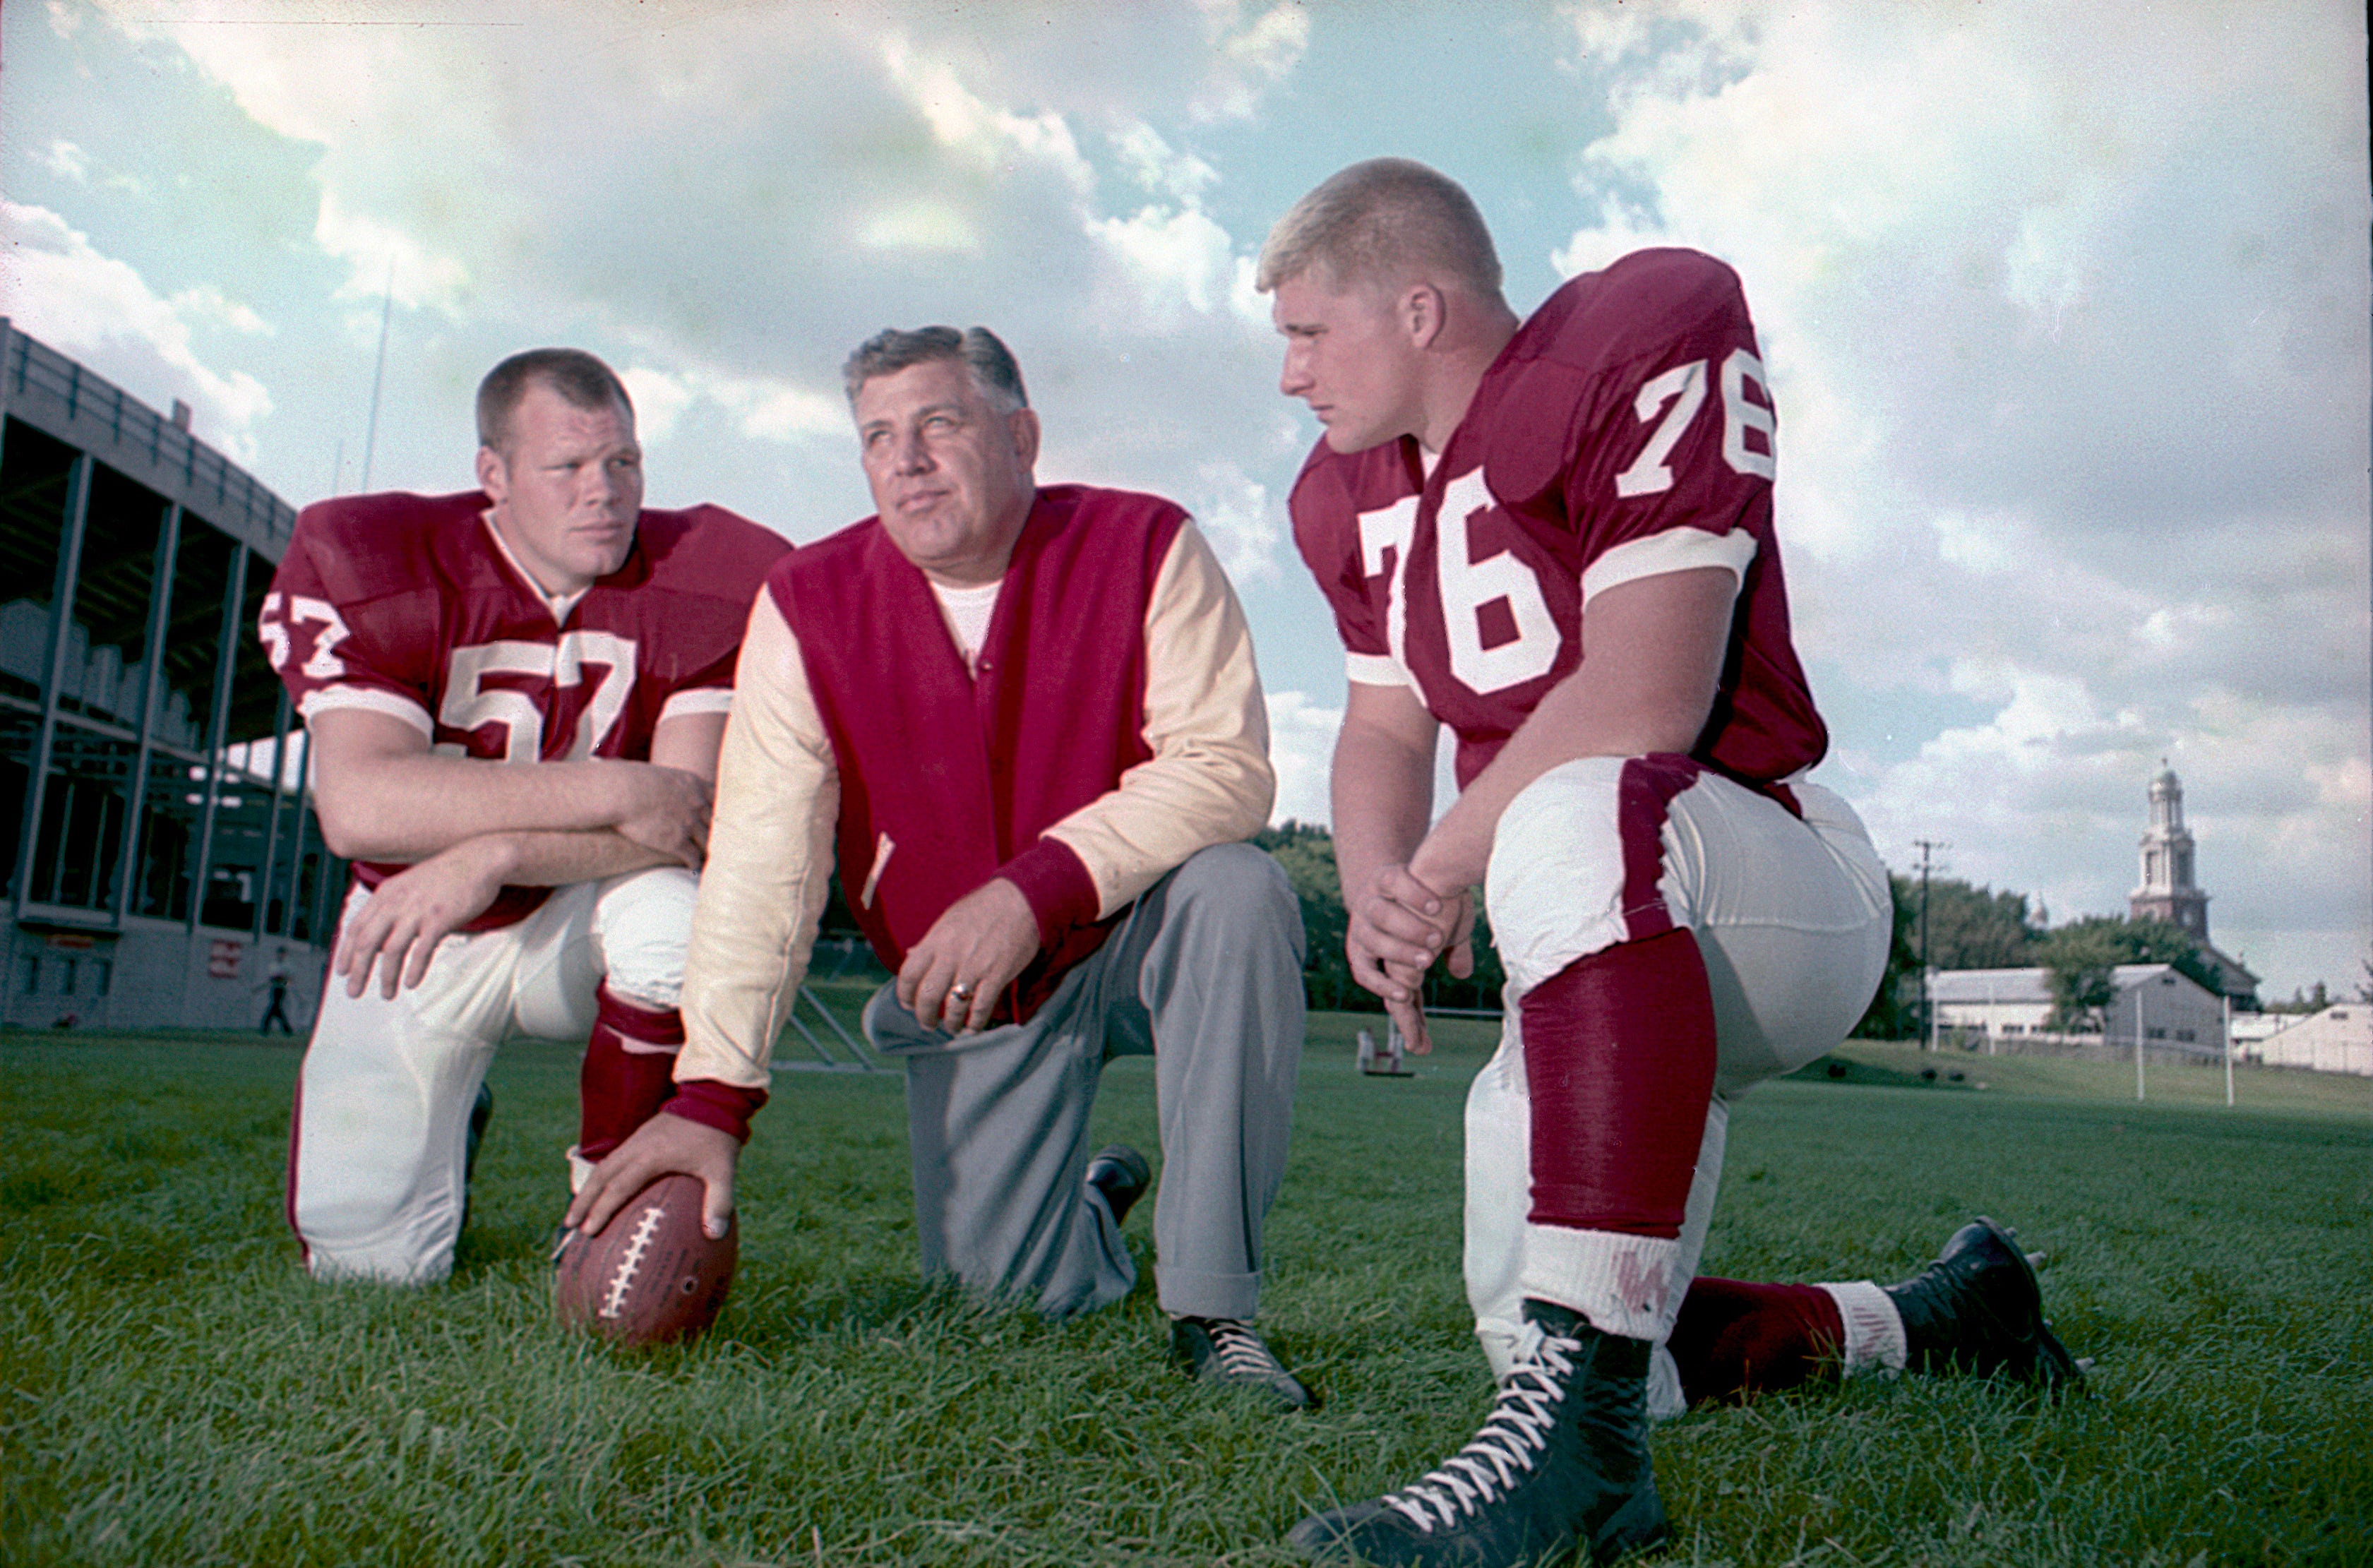
[[[560,1321],[619,1345],[688,1340],[717,1321],[740,1257],[740,1226],[700,1231],[700,1177],[660,1177],[593,1236],[560,1248]]]

